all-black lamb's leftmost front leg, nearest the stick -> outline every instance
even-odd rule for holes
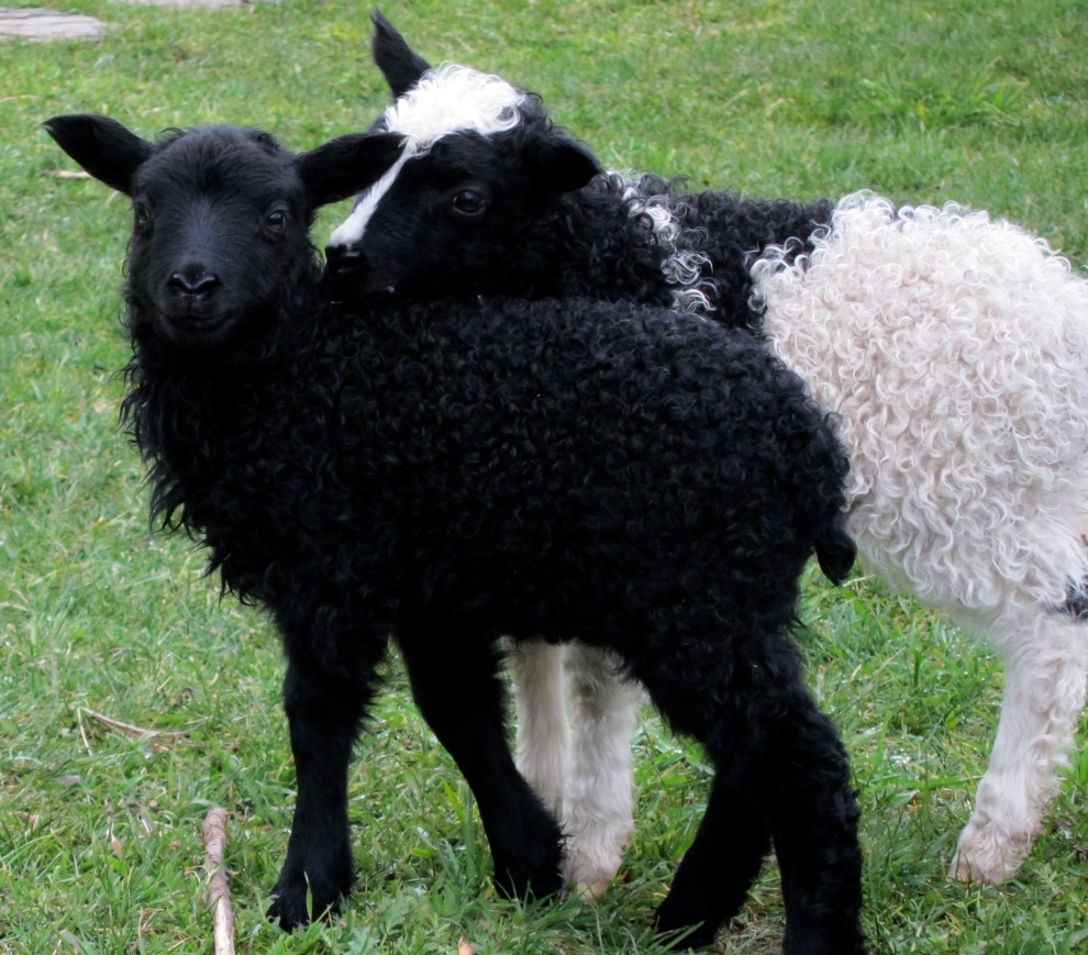
[[[287,862],[273,889],[268,918],[286,931],[335,911],[352,887],[347,767],[373,691],[373,678],[332,676],[290,660],[284,708],[298,778]]]

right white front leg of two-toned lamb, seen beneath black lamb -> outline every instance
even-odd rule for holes
[[[631,736],[643,691],[621,679],[619,667],[611,654],[570,645],[574,758],[563,803],[563,869],[567,885],[591,898],[615,878],[634,832]]]

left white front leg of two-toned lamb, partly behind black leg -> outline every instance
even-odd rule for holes
[[[543,641],[507,643],[518,710],[518,769],[556,819],[563,814],[570,731],[563,660],[566,647]]]

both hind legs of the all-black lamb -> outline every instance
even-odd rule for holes
[[[718,770],[658,926],[699,923],[681,945],[713,941],[743,903],[769,833],[786,903],[786,955],[858,955],[858,812],[835,728],[801,684],[797,653],[785,641],[752,637],[734,658],[723,657],[719,649],[701,665],[689,657],[684,666],[658,659],[635,668],[666,719],[699,739]]]

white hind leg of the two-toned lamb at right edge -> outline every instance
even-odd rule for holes
[[[999,882],[1020,867],[1043,828],[1085,703],[1088,622],[1043,611],[996,638],[1007,680],[997,741],[959,836],[953,877]]]

